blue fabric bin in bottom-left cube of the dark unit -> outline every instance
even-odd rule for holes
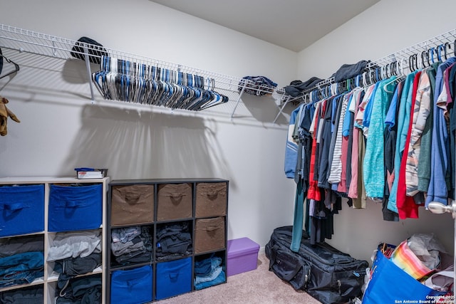
[[[113,271],[111,303],[140,304],[152,301],[152,266]]]

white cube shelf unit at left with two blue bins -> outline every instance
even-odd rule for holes
[[[95,254],[84,257],[87,273],[73,276],[68,285],[96,288],[100,290],[100,302],[105,303],[104,206],[109,180],[109,177],[0,178],[0,261],[7,263],[21,258],[21,264],[11,263],[11,272],[14,267],[29,267],[24,279],[0,286],[0,301],[15,302],[21,293],[21,300],[25,297],[30,303],[36,303],[33,298],[41,298],[46,304],[56,303],[61,267],[73,262],[70,257],[55,254],[56,246],[69,248],[71,238],[87,236],[96,245]]]

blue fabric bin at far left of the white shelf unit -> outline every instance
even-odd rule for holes
[[[44,185],[0,187],[0,236],[44,230]]]

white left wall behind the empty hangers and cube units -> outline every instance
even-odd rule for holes
[[[147,0],[1,0],[0,7],[1,23],[38,33],[88,36],[138,56],[265,75],[280,85],[296,78],[296,53]],[[73,176],[86,166],[106,167],[113,179],[219,177],[230,182],[229,239],[248,236],[264,246],[272,229],[292,223],[286,117],[270,123],[277,112],[271,100],[245,98],[251,117],[232,121],[229,111],[187,115],[98,95],[92,104],[83,61],[4,54],[21,65],[14,78],[0,80],[0,95],[21,123],[9,120],[0,138],[1,177]]]

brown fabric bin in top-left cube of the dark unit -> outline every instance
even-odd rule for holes
[[[154,185],[113,186],[111,226],[147,224],[154,221]]]

